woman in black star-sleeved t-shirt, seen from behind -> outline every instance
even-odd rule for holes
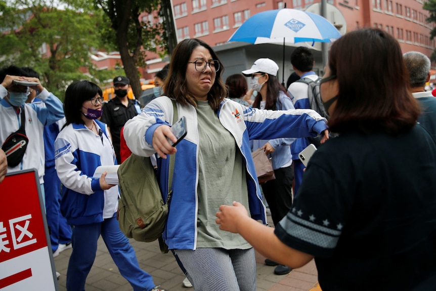
[[[292,210],[271,229],[235,202],[216,222],[282,264],[315,258],[323,291],[434,290],[436,144],[416,122],[398,41],[347,32],[324,72],[321,98],[339,136],[310,159]]]

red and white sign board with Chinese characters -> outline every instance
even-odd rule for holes
[[[0,290],[58,290],[47,220],[35,169],[0,183]]]

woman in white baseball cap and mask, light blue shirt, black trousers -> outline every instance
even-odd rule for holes
[[[295,109],[286,89],[277,79],[279,66],[271,59],[258,59],[249,70],[242,71],[249,77],[251,88],[257,91],[252,107],[267,110]],[[309,135],[309,134],[308,134]],[[262,184],[262,190],[271,211],[274,225],[286,216],[292,205],[292,154],[290,145],[294,138],[256,139],[252,150],[262,148],[271,157],[276,179]],[[288,274],[292,269],[280,265],[270,259],[265,260],[268,266],[276,266],[276,275]]]

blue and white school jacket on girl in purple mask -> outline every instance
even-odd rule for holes
[[[102,190],[93,178],[100,165],[116,164],[106,123],[94,120],[100,136],[84,124],[70,123],[55,141],[55,167],[61,180],[61,213],[70,225],[103,222],[118,209],[118,187]]]

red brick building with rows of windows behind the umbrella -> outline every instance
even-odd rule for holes
[[[227,47],[234,48],[227,40],[252,15],[285,6],[321,14],[320,2],[321,0],[172,0],[172,7],[178,41],[200,38],[217,52],[226,55]],[[327,4],[331,9],[326,18],[342,34],[362,27],[378,27],[395,36],[403,52],[418,51],[430,56],[435,48],[435,40],[430,40],[430,30],[434,23],[426,22],[428,11],[422,9],[424,0],[327,0]],[[259,51],[258,57],[265,56],[262,50],[249,49],[245,45],[245,51]],[[320,48],[320,45],[315,46],[315,50]],[[280,51],[277,53],[281,55]],[[239,67],[251,65],[251,61],[256,58],[255,55],[245,54],[245,64],[237,66],[238,70]],[[103,63],[104,58],[100,59]],[[143,78],[151,79],[166,63],[167,58],[160,59],[150,53],[147,56],[147,67],[141,68]],[[286,70],[288,74],[289,67]]]

